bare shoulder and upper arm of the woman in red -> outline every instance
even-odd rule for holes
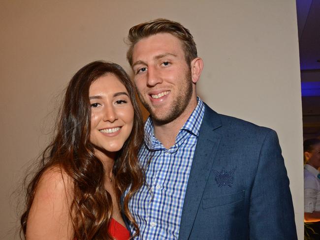
[[[73,182],[60,167],[42,174],[28,216],[27,239],[72,239],[72,192]]]

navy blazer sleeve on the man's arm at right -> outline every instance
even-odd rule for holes
[[[250,240],[297,239],[287,170],[271,129],[260,150],[250,200]]]

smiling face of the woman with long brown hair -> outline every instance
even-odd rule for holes
[[[121,150],[131,133],[134,118],[126,87],[114,74],[107,74],[91,84],[89,98],[90,142],[100,153]]]

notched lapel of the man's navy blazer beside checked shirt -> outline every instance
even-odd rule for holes
[[[193,156],[181,215],[179,240],[186,240],[190,236],[202,194],[222,137],[214,132],[220,126],[221,120],[219,115],[205,104],[205,112]]]

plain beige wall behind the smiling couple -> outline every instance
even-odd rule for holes
[[[17,238],[10,194],[47,144],[57,96],[70,77],[92,60],[129,70],[123,41],[129,27],[158,17],[191,30],[205,63],[198,93],[213,109],[278,132],[303,239],[294,0],[1,0],[0,239]]]

